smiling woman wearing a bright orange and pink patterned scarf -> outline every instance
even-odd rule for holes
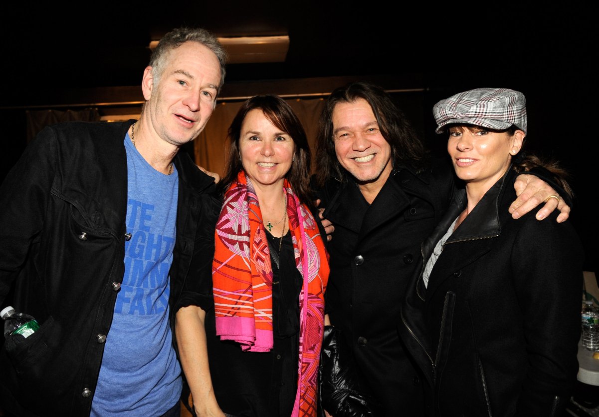
[[[315,416],[328,256],[310,150],[288,103],[247,100],[229,127],[212,280],[176,316],[198,415]]]

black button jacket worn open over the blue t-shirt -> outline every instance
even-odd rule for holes
[[[123,140],[132,122],[47,127],[0,188],[0,304],[14,281],[10,304],[41,324],[0,350],[1,404],[18,415],[89,415],[125,269]],[[181,152],[175,164],[171,323],[184,280],[211,261],[218,212],[213,179]]]

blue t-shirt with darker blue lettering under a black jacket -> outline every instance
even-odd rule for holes
[[[106,338],[92,416],[158,416],[181,394],[168,320],[179,178],[153,169],[125,136],[125,276]]]

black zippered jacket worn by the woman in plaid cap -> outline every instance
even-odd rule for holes
[[[576,382],[582,248],[569,222],[513,220],[510,170],[447,239],[425,288],[423,266],[464,210],[456,194],[401,307],[400,334],[438,416],[558,416]]]

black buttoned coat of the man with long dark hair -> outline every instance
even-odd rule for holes
[[[325,308],[385,416],[422,414],[422,376],[397,326],[420,243],[449,206],[453,178],[449,164],[438,161],[422,173],[395,169],[371,205],[351,180],[332,181],[319,193],[335,226]]]

